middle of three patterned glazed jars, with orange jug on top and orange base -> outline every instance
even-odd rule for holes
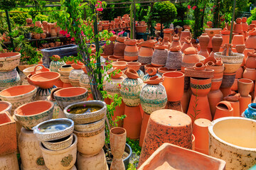
[[[139,94],[142,91],[143,81],[134,69],[126,69],[124,74],[127,78],[122,81],[120,89],[125,103],[124,115],[127,115],[124,119],[124,128],[127,130],[127,137],[139,139],[142,126]]]

